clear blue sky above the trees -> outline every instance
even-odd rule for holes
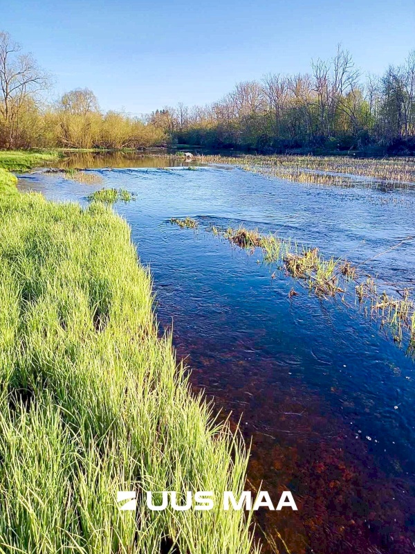
[[[414,0],[0,0],[8,32],[102,109],[205,104],[235,82],[308,71],[341,42],[365,72],[415,48]]]

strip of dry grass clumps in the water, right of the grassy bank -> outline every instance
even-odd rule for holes
[[[291,239],[283,239],[273,233],[263,234],[257,229],[245,227],[221,229],[210,226],[206,230],[248,250],[250,254],[257,248],[261,249],[264,262],[279,262],[280,269],[286,275],[303,283],[308,290],[320,297],[340,297],[347,305],[350,305],[347,299],[354,298],[371,319],[381,326],[389,326],[394,341],[402,343],[405,337],[409,337],[409,350],[415,352],[415,301],[409,298],[409,289],[396,289],[395,295],[379,292],[374,278],[360,275],[358,267],[350,260],[326,260],[317,248],[300,247]],[[407,237],[405,240],[412,239]],[[272,277],[275,278],[275,273]],[[351,287],[351,283],[354,283],[354,287]],[[288,294],[290,298],[296,295],[294,289]]]

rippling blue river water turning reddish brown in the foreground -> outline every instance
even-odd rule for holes
[[[273,499],[293,492],[298,512],[259,513],[275,548],[285,551],[282,538],[292,554],[414,552],[414,361],[354,305],[310,295],[257,263],[258,253],[205,231],[278,231],[326,257],[362,262],[385,283],[410,284],[414,240],[365,260],[414,233],[414,193],[304,186],[237,168],[96,172],[104,186],[136,193],[115,207],[151,267],[158,319],[173,321],[194,387],[252,437],[251,485],[263,480]],[[85,202],[102,184],[34,173],[19,187]],[[199,220],[196,233],[168,222],[187,215]],[[290,299],[291,287],[299,294]]]

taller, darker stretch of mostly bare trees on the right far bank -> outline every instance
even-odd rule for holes
[[[415,51],[383,75],[362,78],[339,46],[310,73],[239,82],[219,102],[166,107],[151,122],[178,143],[210,148],[415,153]]]

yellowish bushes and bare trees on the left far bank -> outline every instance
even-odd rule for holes
[[[0,33],[0,148],[140,148],[160,145],[160,126],[128,114],[100,110],[89,89],[45,102],[50,75]]]

